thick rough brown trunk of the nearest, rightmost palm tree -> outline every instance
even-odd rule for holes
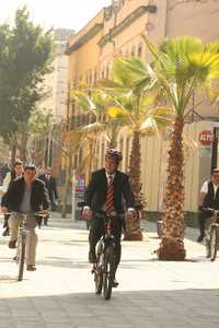
[[[158,249],[161,260],[184,260],[184,155],[183,155],[182,116],[177,116],[169,152],[168,180],[164,194],[164,214],[162,223],[162,241]]]

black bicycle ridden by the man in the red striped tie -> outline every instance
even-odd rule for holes
[[[96,244],[96,262],[92,272],[94,273],[95,293],[110,300],[112,295],[113,282],[115,279],[115,237],[112,234],[116,220],[124,220],[124,215],[106,215],[96,213],[100,220],[103,220],[104,234]]]

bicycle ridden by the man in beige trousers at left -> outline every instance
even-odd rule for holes
[[[22,281],[23,280],[23,273],[24,273],[24,262],[25,262],[25,257],[26,257],[26,238],[27,238],[27,234],[28,231],[26,229],[26,220],[30,215],[34,215],[37,219],[42,219],[45,215],[47,215],[44,212],[36,212],[36,213],[15,213],[13,212],[13,214],[15,216],[20,216],[22,218],[21,220],[21,224],[19,226],[19,233],[18,233],[18,247],[16,247],[16,255],[14,257],[14,260],[18,263],[18,281]],[[38,220],[37,220],[38,221]]]

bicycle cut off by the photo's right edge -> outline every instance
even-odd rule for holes
[[[205,234],[206,256],[211,261],[215,261],[217,257],[217,250],[219,249],[219,210],[210,208],[204,208],[208,211],[210,216],[210,225]]]

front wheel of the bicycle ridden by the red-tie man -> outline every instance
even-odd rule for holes
[[[115,254],[113,245],[105,250],[104,273],[103,273],[103,294],[105,300],[110,300],[112,295],[113,281],[115,277]]]

